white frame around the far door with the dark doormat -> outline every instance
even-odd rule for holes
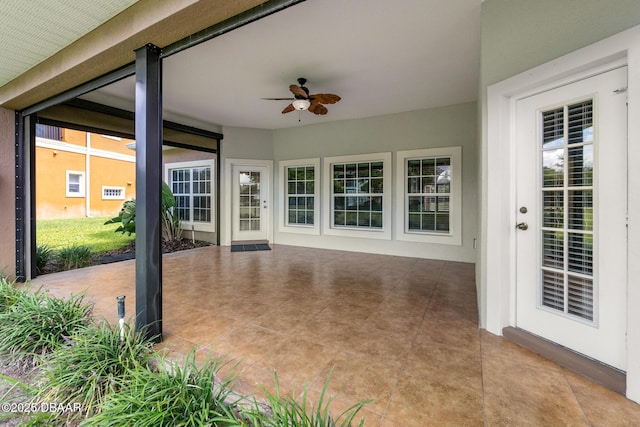
[[[235,166],[262,166],[267,168],[267,175],[269,177],[268,183],[268,200],[267,200],[267,215],[265,217],[265,223],[268,226],[267,238],[270,242],[273,242],[273,218],[274,218],[274,192],[273,192],[273,160],[253,160],[253,159],[225,159],[224,170],[222,171],[223,191],[224,191],[224,205],[220,212],[220,245],[231,245],[231,231],[233,227],[233,168]]]

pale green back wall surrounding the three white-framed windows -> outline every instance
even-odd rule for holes
[[[342,237],[327,235],[294,234],[278,231],[276,243],[345,249],[372,253],[394,254],[434,259],[474,262],[476,237],[476,103],[466,103],[443,108],[412,111],[359,120],[347,120],[296,127],[274,131],[275,182],[280,176],[278,161],[292,159],[324,158],[341,155],[361,155],[391,152],[392,200],[391,239]],[[396,238],[403,229],[403,218],[396,215],[396,206],[404,203],[404,196],[396,189],[396,155],[398,151],[440,147],[462,147],[462,245],[401,241]],[[326,174],[328,171],[322,170]],[[321,180],[321,186],[324,181]],[[276,185],[274,200],[277,221],[279,211],[285,207],[285,197],[278,194]],[[330,200],[320,197],[320,203]],[[322,215],[322,214],[321,214]]]

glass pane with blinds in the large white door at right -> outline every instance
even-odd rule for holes
[[[593,100],[542,112],[541,142],[541,304],[593,321]]]

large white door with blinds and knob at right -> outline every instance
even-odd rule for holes
[[[516,324],[626,369],[627,69],[517,101]]]

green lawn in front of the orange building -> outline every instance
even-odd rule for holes
[[[36,244],[46,244],[55,251],[85,245],[91,252],[105,252],[126,246],[135,239],[134,234],[114,233],[118,224],[104,225],[108,219],[110,217],[37,220]]]

